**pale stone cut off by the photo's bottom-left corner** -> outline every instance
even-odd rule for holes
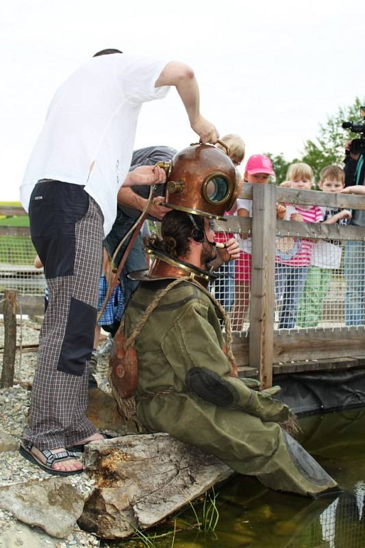
[[[0,535],[0,548],[57,548],[60,541],[23,523],[14,523]]]

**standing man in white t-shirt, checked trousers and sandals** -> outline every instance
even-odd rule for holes
[[[128,169],[142,103],[162,99],[169,86],[201,141],[215,143],[218,132],[200,114],[190,67],[109,49],[58,88],[27,165],[21,202],[45,268],[49,306],[21,453],[49,473],[80,473],[81,462],[66,448],[103,438],[85,416],[101,242],[122,185],[165,180],[154,166]]]

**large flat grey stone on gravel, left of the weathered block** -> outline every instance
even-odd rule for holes
[[[64,538],[73,532],[84,508],[84,497],[64,477],[0,487],[0,508],[16,519]]]

